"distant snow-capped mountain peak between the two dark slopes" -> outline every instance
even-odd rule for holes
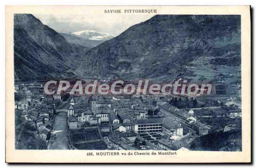
[[[87,40],[109,40],[115,37],[112,34],[96,32],[95,30],[83,30],[83,31],[74,32],[71,34],[78,37],[82,37]]]

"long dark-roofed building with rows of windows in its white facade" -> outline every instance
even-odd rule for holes
[[[164,118],[152,118],[137,120],[133,122],[132,129],[136,133],[162,132],[162,122]]]

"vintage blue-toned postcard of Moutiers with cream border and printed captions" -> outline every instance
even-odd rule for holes
[[[6,162],[251,162],[250,6],[6,6]]]

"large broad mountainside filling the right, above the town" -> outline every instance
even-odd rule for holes
[[[186,68],[192,67],[190,64],[212,71],[220,64],[239,67],[240,33],[238,15],[156,15],[92,48],[76,73],[127,79],[162,76],[174,80],[199,73]],[[202,71],[202,67],[196,68]],[[199,75],[209,81],[222,71],[223,67],[209,77]]]

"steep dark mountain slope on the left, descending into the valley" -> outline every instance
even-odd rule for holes
[[[14,15],[16,79],[61,77],[67,70],[75,69],[88,50],[88,47],[69,43],[32,14]]]

